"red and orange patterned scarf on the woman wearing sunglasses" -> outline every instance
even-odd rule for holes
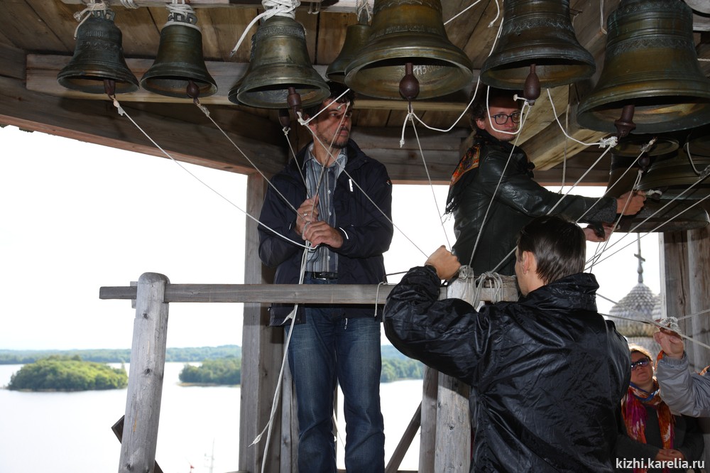
[[[658,425],[661,431],[663,448],[673,448],[675,418],[670,408],[658,395],[658,381],[653,379],[653,391],[648,393],[631,383],[621,400],[621,413],[629,437],[641,443],[646,443],[646,407],[654,408],[658,415]],[[663,469],[667,472],[668,469]],[[634,468],[634,473],[646,473],[645,468]]]

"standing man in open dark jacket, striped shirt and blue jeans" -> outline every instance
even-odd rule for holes
[[[330,84],[323,104],[305,110],[314,141],[271,180],[261,210],[259,256],[276,284],[377,284],[392,241],[392,185],[385,167],[350,136],[352,92]],[[320,112],[320,113],[318,113]],[[290,317],[295,317],[292,326]],[[348,472],[384,472],[380,411],[381,308],[274,304],[285,325],[298,408],[298,468],[334,473],[334,389],[340,384]]]

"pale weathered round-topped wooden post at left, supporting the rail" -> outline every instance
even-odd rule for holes
[[[168,335],[165,286],[169,282],[156,273],[143,273],[138,279],[119,473],[153,473],[155,467]]]

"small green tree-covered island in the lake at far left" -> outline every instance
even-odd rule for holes
[[[81,357],[52,355],[26,364],[12,375],[8,389],[29,391],[92,391],[128,386],[126,369],[111,368]]]

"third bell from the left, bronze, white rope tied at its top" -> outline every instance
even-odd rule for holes
[[[293,92],[300,95],[303,107],[310,107],[323,102],[330,89],[310,62],[300,23],[272,16],[251,39],[249,67],[229,91],[229,100],[249,107],[285,109],[290,107],[288,97]]]

